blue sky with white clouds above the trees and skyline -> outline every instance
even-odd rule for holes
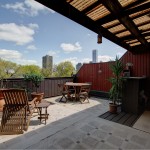
[[[114,60],[126,50],[39,4],[34,0],[0,0],[0,58],[21,65],[42,66],[42,57],[53,56],[53,64],[88,63],[92,50],[98,61]]]

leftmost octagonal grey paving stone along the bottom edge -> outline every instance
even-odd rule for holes
[[[75,144],[75,143],[69,138],[62,138],[57,143],[57,145],[59,145],[63,149],[70,149],[70,147],[73,144]]]

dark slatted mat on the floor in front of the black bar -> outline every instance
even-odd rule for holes
[[[113,121],[122,125],[126,125],[132,127],[140,115],[119,112],[117,114],[112,114],[109,111],[105,112],[104,114],[99,116],[100,118]]]

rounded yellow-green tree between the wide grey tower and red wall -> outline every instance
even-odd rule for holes
[[[70,61],[61,62],[56,66],[55,77],[70,77],[74,72],[74,67]]]

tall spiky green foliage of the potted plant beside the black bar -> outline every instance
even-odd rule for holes
[[[124,81],[122,77],[122,72],[124,66],[119,58],[116,56],[115,62],[110,66],[113,77],[109,78],[109,81],[112,83],[112,87],[109,91],[110,99],[112,100],[113,104],[119,101],[122,93],[122,83]]]

